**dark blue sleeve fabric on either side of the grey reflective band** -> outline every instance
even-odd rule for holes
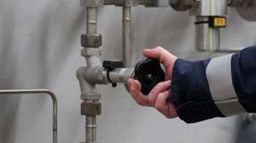
[[[224,117],[212,100],[206,69],[209,60],[177,60],[172,74],[172,103],[186,123]],[[231,76],[237,97],[247,112],[256,112],[256,47],[233,54]],[[220,67],[221,68],[221,67]]]

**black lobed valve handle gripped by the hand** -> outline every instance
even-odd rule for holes
[[[154,59],[141,60],[134,70],[134,78],[142,84],[141,92],[148,95],[157,83],[165,81],[165,72],[160,62]]]

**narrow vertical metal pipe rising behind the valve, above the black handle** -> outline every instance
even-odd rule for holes
[[[123,6],[123,60],[131,67],[131,7]]]

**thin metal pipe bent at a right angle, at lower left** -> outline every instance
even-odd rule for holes
[[[0,94],[49,94],[53,102],[53,143],[57,143],[57,130],[58,130],[58,111],[57,111],[57,99],[53,92],[48,89],[10,89],[0,90]]]

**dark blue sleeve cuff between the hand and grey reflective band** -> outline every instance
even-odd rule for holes
[[[224,117],[212,100],[206,68],[210,60],[178,59],[172,72],[172,102],[177,116],[186,123]]]

